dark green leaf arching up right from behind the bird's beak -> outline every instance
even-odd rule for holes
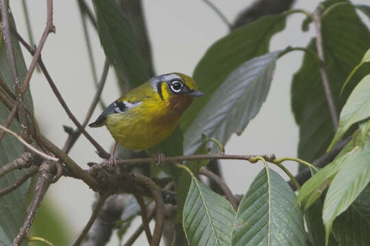
[[[235,29],[206,51],[195,68],[193,78],[206,96],[195,100],[185,111],[180,122],[185,132],[217,88],[232,71],[245,61],[269,51],[271,36],[285,27],[286,14],[264,16]]]

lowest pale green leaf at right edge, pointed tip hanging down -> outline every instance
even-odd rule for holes
[[[348,153],[343,166],[330,184],[323,204],[323,223],[326,238],[334,219],[354,202],[356,197],[370,182],[370,139],[365,146],[356,146]]]

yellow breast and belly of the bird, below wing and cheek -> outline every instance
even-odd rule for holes
[[[163,90],[163,99],[158,94],[144,98],[134,109],[108,115],[105,124],[121,146],[145,150],[173,133],[192,100],[190,97],[171,100],[167,90]]]

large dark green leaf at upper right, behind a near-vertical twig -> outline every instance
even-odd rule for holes
[[[337,2],[325,1],[323,4],[328,6]],[[321,32],[330,89],[336,109],[340,112],[354,87],[351,81],[360,81],[370,70],[369,64],[364,64],[339,97],[349,72],[369,49],[370,32],[351,5],[338,6],[324,16]],[[308,49],[315,51],[314,43],[312,40]],[[323,91],[319,64],[312,55],[304,55],[302,66],[293,77],[291,93],[292,109],[299,124],[298,156],[313,161],[328,148],[334,136],[334,127]]]

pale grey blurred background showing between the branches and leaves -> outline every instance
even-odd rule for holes
[[[21,0],[10,1],[10,8],[14,14],[18,31],[23,37],[27,37],[21,2]],[[253,2],[246,0],[212,1],[230,22],[233,22],[238,13]],[[301,8],[311,12],[319,2],[296,1],[293,9]],[[352,2],[369,3],[366,0]],[[27,5],[37,44],[45,28],[46,2],[27,1]],[[95,94],[95,85],[88,61],[77,1],[54,1],[53,5],[53,23],[56,25],[56,33],[49,35],[42,50],[42,59],[71,111],[77,119],[82,121]],[[168,72],[193,74],[197,62],[206,49],[229,32],[221,18],[204,1],[145,0],[143,9],[156,74]],[[369,19],[365,18],[362,13],[358,14],[369,25]],[[301,21],[304,18],[303,14],[289,16],[284,31],[273,36],[270,50],[285,49],[288,45],[306,46],[310,38],[314,36],[314,29],[311,25],[309,31],[301,31]],[[89,26],[88,31],[93,44],[97,74],[100,77],[105,56],[95,30]],[[27,52],[24,52],[24,55],[26,63],[29,64],[32,57]],[[266,102],[243,134],[232,136],[225,146],[227,154],[274,153],[277,157],[297,156],[299,133],[291,113],[290,86],[293,73],[301,66],[302,55],[297,51],[277,61],[275,76]],[[62,125],[73,126],[73,123],[39,72],[35,72],[32,77],[31,92],[36,118],[42,132],[61,148],[67,138]],[[110,70],[102,98],[104,102],[110,103],[119,96],[121,95],[114,72]],[[99,113],[101,113],[101,108],[98,106],[92,119],[95,119]],[[101,143],[103,148],[110,151],[113,139],[106,128],[88,128],[87,131]],[[95,154],[93,146],[83,136],[75,144],[70,156],[84,169],[88,168],[86,163],[90,161],[101,161]],[[295,163],[286,163],[286,167],[293,174],[297,172]],[[221,169],[232,191],[240,194],[247,191],[253,178],[262,169],[262,164],[221,161]],[[286,177],[284,174],[282,176]],[[90,217],[91,205],[95,201],[93,191],[80,180],[62,178],[49,189],[47,201],[55,208],[53,213],[69,228],[66,237],[74,241]],[[130,236],[140,223],[141,219],[136,219],[125,238]],[[52,224],[49,226],[53,227]],[[113,236],[109,245],[117,245],[117,243],[116,236]],[[144,234],[141,235],[141,241],[137,241],[137,245],[146,245]]]

